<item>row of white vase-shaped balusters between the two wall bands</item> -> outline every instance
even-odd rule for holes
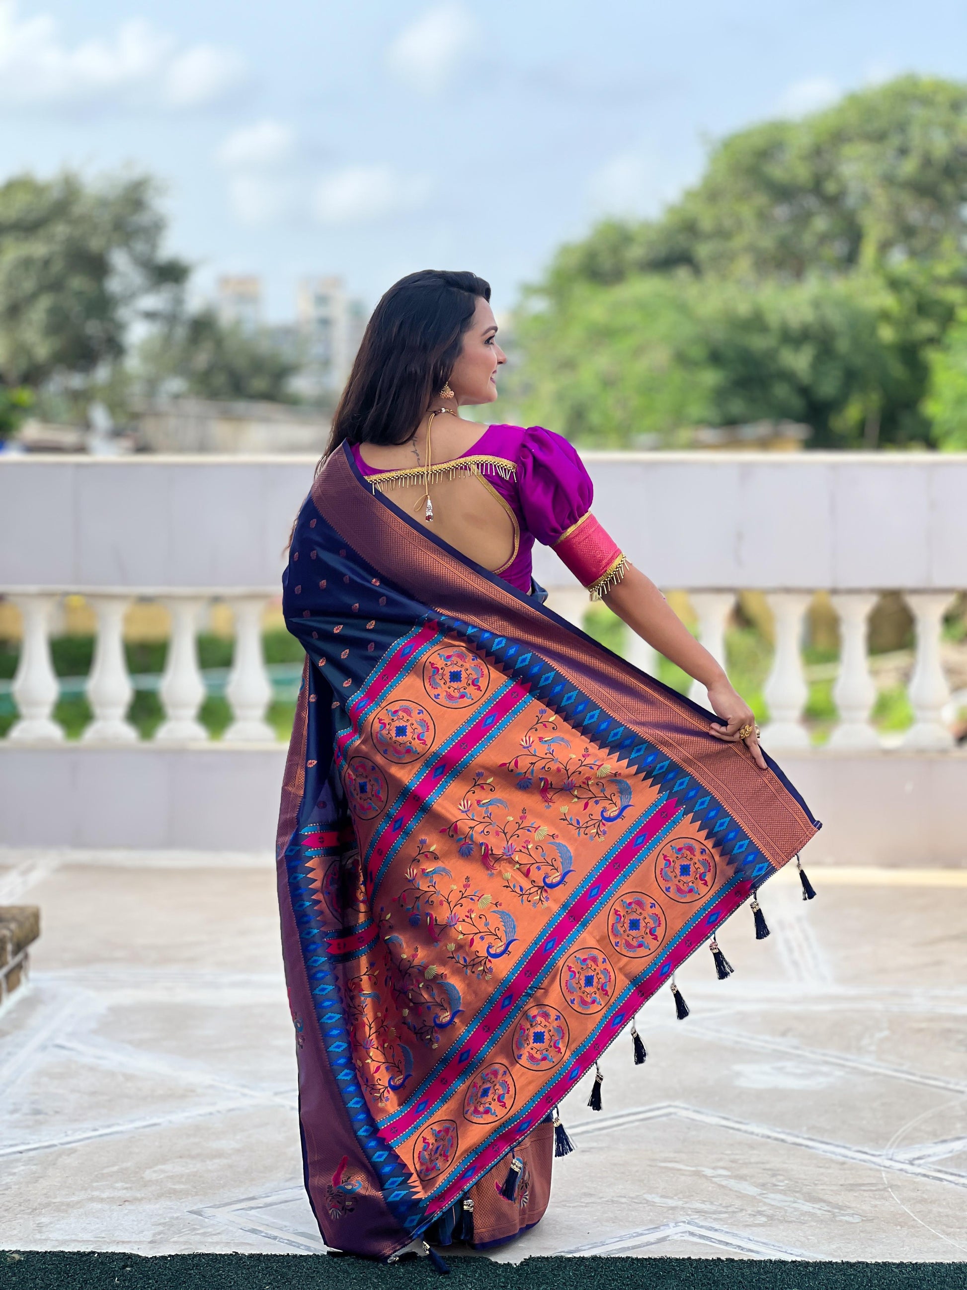
[[[0,588],[3,591],[3,588]],[[81,591],[97,617],[97,637],[85,693],[93,712],[81,734],[84,743],[125,744],[138,739],[126,712],[134,695],[124,650],[124,618],[135,599],[153,597],[168,609],[171,635],[165,671],[159,685],[164,721],[153,734],[160,743],[208,742],[209,733],[199,721],[206,689],[199,666],[197,631],[202,611],[218,600],[230,606],[235,622],[235,649],[226,698],[233,720],[222,739],[228,743],[275,742],[266,721],[272,699],[272,682],[262,646],[263,611],[276,595],[272,588],[10,588],[6,597],[22,615],[19,666],[12,693],[19,719],[8,739],[21,743],[59,743],[63,729],[53,710],[59,684],[50,659],[49,632],[62,595]],[[954,746],[945,720],[950,686],[940,660],[943,617],[953,602],[952,591],[906,591],[906,604],[915,623],[915,657],[908,695],[914,712],[901,747],[939,752]],[[689,591],[698,619],[698,635],[710,653],[726,662],[726,624],[736,601],[735,592]],[[771,720],[763,729],[763,743],[775,751],[806,751],[812,747],[803,708],[808,694],[801,650],[806,613],[811,595],[805,591],[770,591],[766,602],[772,614],[775,651],[763,694]],[[839,620],[841,659],[833,697],[839,712],[826,748],[865,751],[882,746],[870,715],[877,688],[870,671],[866,631],[877,592],[838,592],[832,596]],[[563,617],[580,624],[588,609],[587,593],[579,587],[553,587],[549,604]],[[643,671],[656,672],[654,650],[630,632],[625,633],[627,657]],[[690,697],[707,703],[704,688],[692,685]]]

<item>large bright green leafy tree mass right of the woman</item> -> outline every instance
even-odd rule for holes
[[[966,245],[967,86],[905,76],[757,125],[660,219],[561,248],[521,310],[518,399],[594,442],[783,417],[816,446],[923,440]]]

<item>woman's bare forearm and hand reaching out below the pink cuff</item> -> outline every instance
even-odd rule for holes
[[[743,726],[752,725],[753,729],[758,729],[752,708],[732,689],[725,670],[712,658],[705,646],[695,640],[681,618],[669,608],[655,583],[646,578],[640,569],[629,565],[624,578],[618,586],[611,587],[602,596],[602,600],[659,654],[664,654],[683,672],[705,686],[712,711],[725,721],[723,726],[714,722],[709,726],[709,731],[717,739],[736,743],[739,730]],[[745,744],[756,765],[765,770],[766,762],[756,735],[749,735]]]

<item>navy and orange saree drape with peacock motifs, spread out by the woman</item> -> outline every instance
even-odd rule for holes
[[[387,1256],[549,1131],[819,824],[344,448],[284,588],[307,654],[277,845],[306,1186],[327,1245]]]

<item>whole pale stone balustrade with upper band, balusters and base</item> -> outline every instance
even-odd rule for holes
[[[763,742],[826,822],[814,850],[962,863],[964,753],[953,747],[940,646],[945,608],[967,588],[967,455],[585,461],[598,519],[659,586],[687,591],[699,633],[719,659],[737,591],[765,597],[775,650]],[[18,719],[0,740],[0,846],[271,846],[284,748],[266,720],[272,688],[262,615],[278,595],[291,517],[313,464],[294,457],[0,458],[0,596],[17,605],[22,633]],[[535,550],[535,577],[551,588],[552,606],[580,622],[587,593],[547,548]],[[801,641],[816,590],[829,592],[841,641],[832,664],[839,722],[821,753],[802,721]],[[903,592],[917,633],[908,686],[914,722],[887,751],[870,721],[866,648],[870,610],[884,590]],[[81,593],[97,620],[85,682],[93,719],[80,739],[66,739],[54,720],[50,633],[68,593]],[[151,739],[130,724],[124,650],[128,605],[146,596],[170,617],[164,675],[152,680],[164,719]],[[214,600],[231,608],[235,623],[233,720],[219,739],[199,720],[206,677],[197,632]],[[647,646],[627,645],[632,660],[654,672]],[[692,694],[703,699],[698,686]],[[904,810],[884,813],[892,801]]]

